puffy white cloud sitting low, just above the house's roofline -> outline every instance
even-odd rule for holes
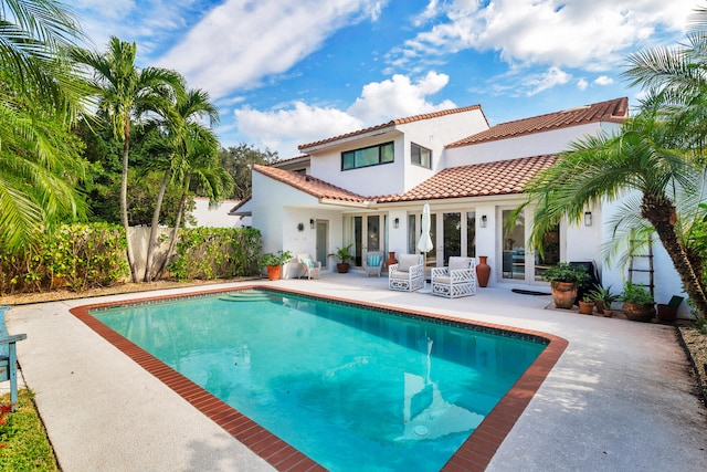
[[[361,96],[346,111],[295,102],[286,108],[257,111],[244,106],[234,112],[239,133],[258,140],[260,146],[277,150],[281,158],[298,155],[297,146],[355,132],[392,118],[454,108],[450,101],[433,104],[426,99],[447,84],[449,77],[435,72],[416,82],[395,75],[363,86]]]

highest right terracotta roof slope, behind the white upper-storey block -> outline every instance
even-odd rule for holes
[[[449,144],[446,147],[460,147],[477,143],[506,139],[514,136],[529,135],[532,133],[585,125],[588,123],[622,123],[627,117],[629,98],[615,98],[608,102],[579,106],[562,112],[534,116],[531,118],[502,123],[500,125],[493,126],[485,132],[477,133],[456,143]]]

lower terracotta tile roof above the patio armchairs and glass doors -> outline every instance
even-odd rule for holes
[[[546,155],[452,167],[402,195],[374,199],[382,203],[520,193],[530,178],[550,167],[556,159],[556,156]]]

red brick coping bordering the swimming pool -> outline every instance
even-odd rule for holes
[[[540,385],[545,381],[546,377],[569,344],[567,339],[563,339],[561,337],[530,329],[508,327],[492,323],[469,322],[468,319],[462,319],[452,316],[378,305],[360,301],[351,301],[282,287],[272,289],[264,285],[245,285],[238,289],[219,289],[181,295],[165,295],[135,298],[129,301],[98,303],[93,305],[77,306],[70,310],[70,312],[98,335],[104,337],[106,340],[108,340],[110,344],[113,344],[115,347],[117,347],[119,350],[135,360],[140,367],[157,377],[166,386],[171,388],[176,394],[181,396],[184,400],[189,401],[194,408],[213,420],[235,440],[246,445],[249,449],[267,461],[278,471],[325,471],[325,468],[313,461],[310,458],[299,452],[297,449],[293,448],[275,434],[271,433],[270,431],[257,424],[255,421],[245,417],[233,407],[230,407],[224,401],[214,397],[199,385],[189,380],[187,377],[182,376],[181,374],[169,367],[167,364],[157,359],[141,347],[114,332],[88,313],[88,311],[91,310],[125,305],[128,303],[144,303],[160,300],[180,298],[184,296],[200,296],[247,289],[264,289],[274,292],[315,296],[330,301],[369,306],[378,310],[394,311],[414,316],[424,316],[453,323],[475,325],[490,329],[537,336],[546,339],[548,342],[546,348],[540,353],[538,358],[530,365],[525,374],[516,381],[510,390],[508,390],[508,392],[500,399],[496,407],[494,407],[494,409],[486,416],[486,418],[484,418],[476,430],[466,439],[466,441],[460,447],[460,449],[456,450],[454,455],[442,469],[444,471],[462,472],[483,471],[486,469],[494,454],[506,439],[506,436],[516,424],[516,421],[518,420],[518,418],[520,418],[520,415],[530,402],[530,399],[536,394],[538,388],[540,388]]]

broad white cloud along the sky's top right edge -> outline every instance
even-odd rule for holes
[[[486,2],[484,2],[486,3]],[[496,51],[508,63],[609,70],[656,30],[683,35],[694,0],[453,0],[446,21],[390,54],[394,65],[464,49]]]

